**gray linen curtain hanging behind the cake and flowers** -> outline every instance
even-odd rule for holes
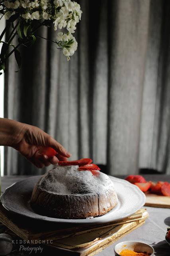
[[[170,173],[170,2],[80,0],[69,62],[38,39],[5,74],[5,117],[42,128],[109,174]],[[52,28],[40,36],[55,39]],[[38,174],[6,148],[5,174]]]

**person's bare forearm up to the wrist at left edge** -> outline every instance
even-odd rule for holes
[[[13,146],[20,141],[21,134],[24,132],[25,124],[0,118],[0,145]]]

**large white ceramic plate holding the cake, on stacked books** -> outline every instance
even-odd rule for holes
[[[33,176],[25,180],[14,183],[12,186],[6,188],[4,194],[1,196],[2,205],[15,214],[20,214],[25,217],[44,220],[58,223],[72,223],[72,224],[97,224],[108,223],[121,220],[135,213],[145,204],[145,194],[141,190],[119,178],[109,176],[114,183],[115,190],[118,196],[118,204],[110,212],[91,219],[58,219],[50,218],[36,214],[29,205],[29,199],[35,183],[41,176]]]

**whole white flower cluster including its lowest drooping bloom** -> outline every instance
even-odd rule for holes
[[[19,13],[21,19],[47,20],[57,28],[66,28],[67,34],[58,33],[57,40],[63,42],[63,54],[69,56],[77,49],[77,42],[72,36],[76,30],[76,24],[81,19],[82,11],[77,2],[71,0],[5,0],[5,18],[8,20],[13,14]],[[66,46],[66,47],[65,47]]]

